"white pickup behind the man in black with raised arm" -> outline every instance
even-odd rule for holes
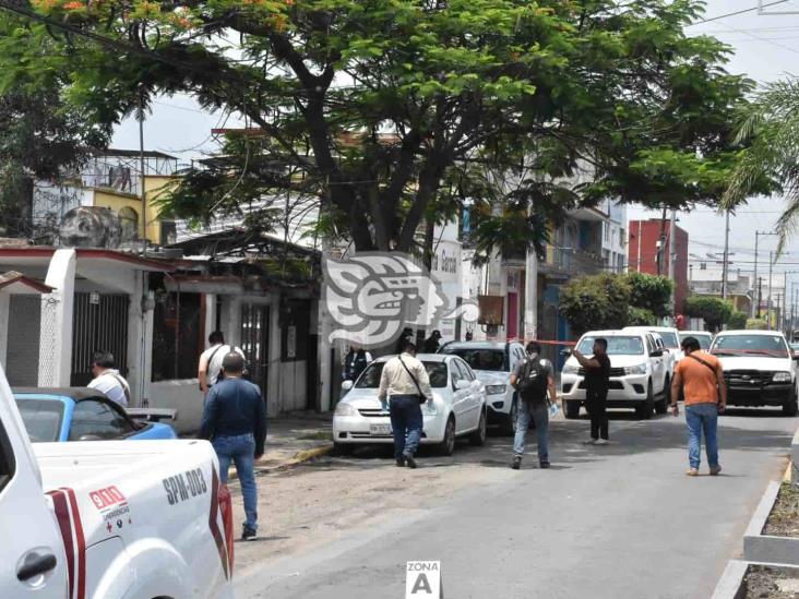
[[[670,398],[670,373],[655,334],[640,330],[591,331],[577,342],[577,349],[593,355],[594,339],[608,340],[610,358],[609,408],[634,408],[639,418],[652,418],[653,409],[666,414]],[[563,411],[577,418],[585,404],[585,369],[571,356],[560,376]]]

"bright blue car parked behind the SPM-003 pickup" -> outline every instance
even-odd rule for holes
[[[138,421],[96,390],[16,388],[13,394],[34,443],[178,438],[169,424]]]

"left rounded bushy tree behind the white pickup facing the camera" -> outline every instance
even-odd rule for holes
[[[612,274],[585,276],[571,280],[560,291],[560,313],[572,332],[621,328],[627,325],[630,286]]]

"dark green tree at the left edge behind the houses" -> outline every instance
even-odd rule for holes
[[[23,21],[3,15],[0,47],[19,44],[24,29]],[[57,45],[43,38],[32,50],[51,52]],[[25,69],[13,77],[0,74],[0,227],[12,237],[32,235],[34,179],[58,182],[74,175],[90,152],[106,147],[111,132],[68,103],[58,73]]]

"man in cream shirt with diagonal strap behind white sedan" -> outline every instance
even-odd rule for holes
[[[416,468],[416,450],[421,440],[425,420],[421,405],[432,402],[432,390],[427,369],[416,359],[416,346],[407,342],[400,356],[383,367],[378,399],[389,398],[391,429],[394,434],[394,458],[397,466]]]

